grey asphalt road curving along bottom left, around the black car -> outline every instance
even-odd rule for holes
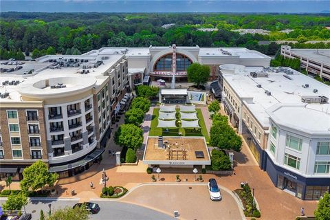
[[[4,198],[1,198],[0,203],[5,202]],[[52,210],[58,208],[64,208],[65,206],[72,207],[78,199],[60,199],[60,200],[32,200],[25,206],[28,213],[32,213],[32,220],[38,220],[40,217],[41,209],[45,214],[50,210],[49,204],[52,204]],[[155,210],[144,208],[142,206],[136,206],[130,203],[118,202],[118,201],[92,201],[100,205],[100,212],[98,214],[90,214],[89,217],[92,220],[140,220],[140,219],[159,219],[167,220],[173,219],[167,214],[157,212]]]

